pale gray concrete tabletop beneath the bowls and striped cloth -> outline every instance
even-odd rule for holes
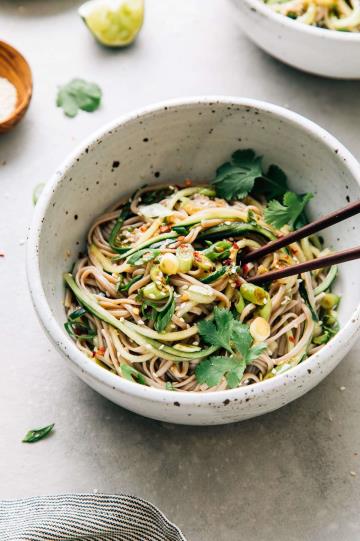
[[[315,390],[271,415],[219,428],[164,425],[114,406],[65,369],[35,318],[24,268],[34,186],[108,120],[179,95],[251,96],[305,114],[360,157],[360,83],[272,60],[241,35],[225,0],[148,0],[137,44],[118,52],[93,42],[76,5],[0,0],[1,38],[26,54],[35,80],[26,119],[0,138],[0,498],[133,493],[189,541],[360,539],[359,344]],[[104,105],[69,120],[54,98],[75,76],[97,81]],[[48,422],[52,437],[21,443]]]

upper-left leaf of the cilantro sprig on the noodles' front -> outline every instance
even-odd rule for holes
[[[233,322],[234,318],[231,312],[215,306],[214,318],[212,320],[203,319],[199,322],[199,333],[208,344],[232,352],[230,340]]]

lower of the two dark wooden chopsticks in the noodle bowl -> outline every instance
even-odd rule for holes
[[[352,261],[353,259],[360,258],[360,246],[357,248],[348,248],[341,252],[335,252],[334,254],[318,257],[317,259],[311,259],[305,261],[305,263],[298,263],[283,269],[276,269],[264,274],[258,274],[253,278],[247,278],[246,281],[252,284],[259,284],[262,282],[268,282],[270,280],[278,280],[279,278],[286,278],[287,276],[294,276],[295,274],[302,274],[303,272],[322,269],[325,267],[331,267],[331,265],[337,265],[338,263],[345,263],[346,261]]]

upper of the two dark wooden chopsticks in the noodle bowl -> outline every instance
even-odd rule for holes
[[[288,246],[292,242],[296,242],[298,240],[304,239],[305,237],[308,237],[309,235],[313,235],[314,233],[317,233],[318,231],[321,231],[322,229],[325,229],[326,227],[330,227],[331,225],[342,222],[343,220],[346,220],[347,218],[351,218],[351,216],[355,216],[355,214],[359,214],[359,213],[360,213],[360,200],[355,201],[354,203],[350,203],[349,205],[346,205],[346,207],[340,210],[331,212],[330,214],[327,214],[326,216],[323,216],[322,218],[319,218],[318,220],[315,220],[314,222],[311,222],[310,224],[305,225],[304,227],[301,227],[300,229],[297,229],[296,231],[292,231],[288,235],[285,235],[283,237],[280,237],[279,239],[268,242],[267,244],[265,244],[261,248],[258,248],[257,250],[253,250],[252,252],[249,252],[248,254],[246,254],[244,257],[241,258],[241,263],[248,263],[249,261],[253,261],[254,259],[259,259],[260,257],[264,257],[267,254],[276,252],[276,250],[279,250],[280,248],[284,248],[284,246]],[[341,263],[341,261],[339,263]],[[322,266],[326,266],[326,265],[322,265]],[[319,268],[319,267],[314,267],[314,268]]]

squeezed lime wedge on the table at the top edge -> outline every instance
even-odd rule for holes
[[[90,0],[79,8],[93,36],[107,47],[134,41],[144,21],[144,0]]]

